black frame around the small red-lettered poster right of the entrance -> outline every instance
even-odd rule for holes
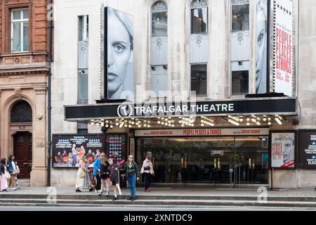
[[[272,167],[272,134],[282,134],[282,133],[293,133],[294,134],[294,167]],[[298,168],[298,132],[297,130],[273,130],[269,131],[269,147],[268,147],[269,157],[268,157],[268,167],[269,169],[279,169],[279,170],[293,170]]]

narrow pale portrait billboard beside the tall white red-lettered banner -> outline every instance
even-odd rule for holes
[[[256,7],[256,94],[267,92],[268,2],[259,0]]]

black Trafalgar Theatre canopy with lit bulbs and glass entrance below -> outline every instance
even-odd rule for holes
[[[124,152],[121,158],[134,155],[141,166],[149,154],[156,184],[268,185],[270,133],[297,122],[299,106],[296,98],[207,101],[187,107],[100,103],[67,105],[65,118],[100,127],[105,143],[110,137],[124,138],[124,144],[111,139],[105,145],[108,156],[119,150]]]

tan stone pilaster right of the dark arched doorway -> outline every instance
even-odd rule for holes
[[[46,87],[34,91],[31,186],[47,186]]]

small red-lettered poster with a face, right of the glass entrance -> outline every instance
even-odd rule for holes
[[[295,133],[271,134],[271,167],[295,167]]]

